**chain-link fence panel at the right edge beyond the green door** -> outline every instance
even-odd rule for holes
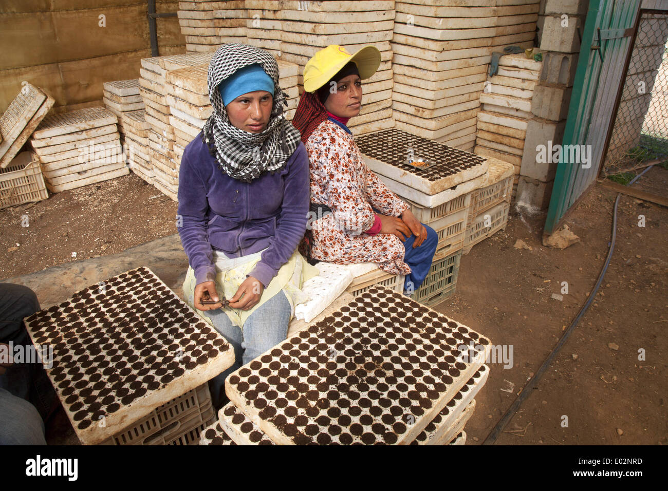
[[[603,176],[668,159],[668,14],[641,13]]]

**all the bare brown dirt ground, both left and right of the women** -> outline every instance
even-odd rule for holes
[[[651,172],[639,184],[667,188],[668,171]],[[152,198],[158,194],[130,174],[0,210],[0,278],[110,255],[175,233],[176,203]],[[512,367],[490,363],[490,377],[466,424],[467,444],[488,436],[585,303],[607,255],[616,196],[597,186],[580,203],[567,223],[581,240],[563,251],[542,246],[544,216],[512,206],[506,230],[462,257],[456,293],[436,309],[494,345],[505,345],[508,354],[512,346],[513,355]],[[27,227],[21,226],[24,214]],[[644,227],[639,215],[645,216]],[[597,298],[498,444],[668,442],[667,217],[665,208],[621,198],[615,253]],[[515,249],[518,238],[531,249]],[[552,293],[562,294],[564,281],[568,293],[552,299]],[[66,426],[63,418],[53,425]],[[48,429],[47,440],[54,430]]]

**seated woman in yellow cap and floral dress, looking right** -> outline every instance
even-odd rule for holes
[[[304,68],[304,93],[293,120],[311,170],[312,218],[303,251],[317,261],[371,262],[406,275],[404,290],[410,294],[432,265],[436,232],[367,168],[346,126],[361,109],[361,80],[379,65],[380,51],[373,46],[351,55],[330,45]]]

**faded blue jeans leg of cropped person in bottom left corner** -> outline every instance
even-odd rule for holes
[[[35,406],[0,389],[0,445],[46,445]]]

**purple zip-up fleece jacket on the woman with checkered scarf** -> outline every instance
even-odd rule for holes
[[[186,146],[178,176],[178,234],[196,283],[215,281],[212,249],[240,257],[266,248],[249,276],[267,287],[306,230],[306,148],[300,143],[283,169],[242,182],[222,173],[201,137]]]

